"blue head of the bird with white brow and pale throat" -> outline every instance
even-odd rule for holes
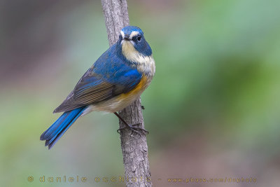
[[[127,60],[135,61],[137,55],[151,56],[152,50],[139,27],[127,26],[120,31],[119,41],[123,55]]]

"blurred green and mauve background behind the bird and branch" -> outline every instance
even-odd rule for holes
[[[116,116],[83,116],[50,151],[39,140],[109,47],[100,1],[0,4],[0,186],[124,186],[94,181],[124,175]],[[156,62],[141,97],[153,185],[279,186],[280,1],[128,5]],[[88,180],[39,182],[64,175]],[[190,177],[257,183],[167,182]]]

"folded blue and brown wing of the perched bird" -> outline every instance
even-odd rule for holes
[[[100,61],[97,60],[94,66],[87,70],[54,113],[111,99],[121,93],[129,92],[141,81],[141,74],[137,69],[123,61],[114,59],[114,62],[110,62],[111,60],[108,62],[106,59],[103,64]]]

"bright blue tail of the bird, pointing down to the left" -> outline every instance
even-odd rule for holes
[[[72,111],[64,112],[62,116],[41,135],[40,139],[45,140],[45,146],[48,146],[48,149],[52,148],[66,130],[80,117],[84,110],[85,107],[80,107]]]

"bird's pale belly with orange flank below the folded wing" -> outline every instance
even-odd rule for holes
[[[126,106],[130,105],[132,102],[134,102],[134,100],[137,99],[142,92],[144,92],[144,90],[148,87],[148,85],[150,85],[150,83],[151,83],[151,78],[148,78],[147,76],[143,76],[139,84],[130,92],[120,94],[106,101],[92,104],[87,107],[83,115],[89,113],[90,111],[106,111],[109,113],[120,111],[124,109]]]

